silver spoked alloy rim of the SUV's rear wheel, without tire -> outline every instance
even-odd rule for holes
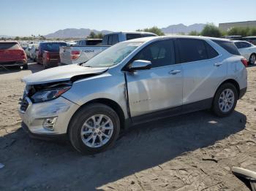
[[[230,109],[232,109],[234,102],[235,95],[233,93],[233,90],[223,90],[219,96],[219,109],[222,112],[229,112]]]

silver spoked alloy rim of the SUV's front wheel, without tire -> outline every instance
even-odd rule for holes
[[[113,134],[113,122],[105,114],[95,114],[83,123],[81,139],[83,144],[91,148],[107,144]]]

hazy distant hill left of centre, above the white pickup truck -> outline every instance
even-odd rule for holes
[[[97,30],[91,30],[89,28],[66,28],[63,30],[56,31],[51,34],[45,35],[47,39],[64,39],[64,38],[86,38],[86,36],[89,36],[89,34],[93,31],[95,34],[108,34],[111,31],[97,31]]]

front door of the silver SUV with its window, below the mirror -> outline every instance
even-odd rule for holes
[[[181,66],[175,64],[174,52],[173,40],[162,40],[149,44],[132,59],[152,63],[149,70],[127,72],[132,117],[182,105],[183,73]]]

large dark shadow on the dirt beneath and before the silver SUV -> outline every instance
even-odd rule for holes
[[[98,155],[83,156],[70,144],[29,139],[19,129],[0,147],[0,190],[96,190],[102,185],[172,160],[184,152],[208,147],[245,128],[246,116],[233,112],[219,118],[194,112],[138,125]],[[15,176],[13,176],[15,174]],[[12,177],[12,179],[10,179]]]

